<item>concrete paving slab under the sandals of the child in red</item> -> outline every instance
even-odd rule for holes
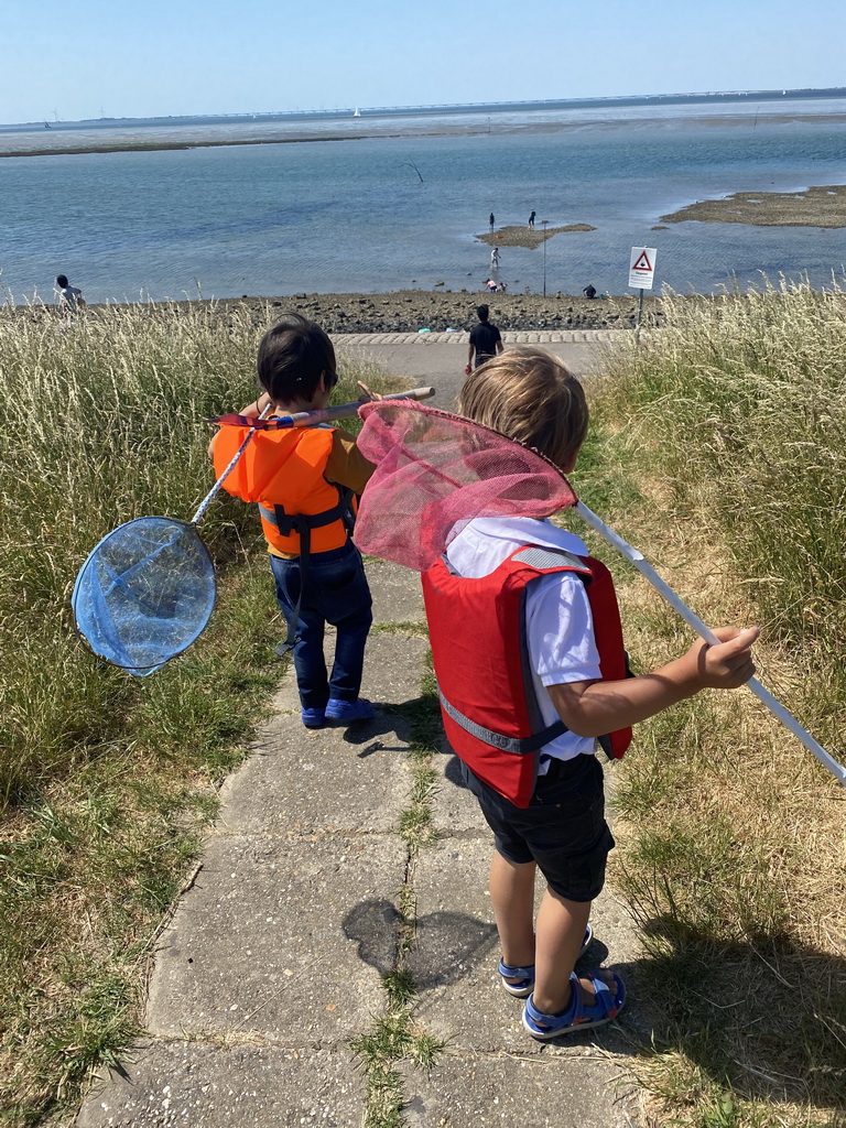
[[[487,827],[477,836],[442,838],[421,853],[413,874],[417,907],[416,945],[408,967],[420,986],[416,1021],[459,1051],[532,1052],[537,1043],[522,1028],[522,1003],[502,989],[500,959],[487,873],[493,839]],[[537,882],[537,897],[543,882]],[[596,940],[581,967],[605,964],[634,992],[632,963],[638,950],[623,906],[606,889],[591,913]],[[473,1021],[468,1021],[468,1016]],[[599,1030],[569,1036],[566,1046],[601,1046],[623,1052],[629,1013]],[[561,1040],[564,1042],[564,1040]],[[558,1043],[556,1042],[557,1047]]]

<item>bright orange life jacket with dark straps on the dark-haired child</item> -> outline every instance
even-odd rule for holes
[[[355,512],[351,490],[327,482],[326,462],[335,428],[256,431],[223,488],[243,501],[257,502],[271,550],[301,555],[342,548]],[[249,433],[246,426],[222,426],[212,450],[220,475]]]

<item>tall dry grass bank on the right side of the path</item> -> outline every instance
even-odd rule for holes
[[[844,761],[846,296],[768,285],[664,308],[667,328],[608,358],[597,488],[706,620],[761,623],[763,680]],[[629,650],[654,667],[689,632],[622,575]],[[841,1123],[843,791],[746,691],[640,726],[617,782],[655,1121]]]

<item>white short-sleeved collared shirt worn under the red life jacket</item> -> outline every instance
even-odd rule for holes
[[[549,521],[526,517],[477,518],[447,548],[447,559],[459,575],[490,575],[523,545],[563,548],[587,556],[583,541]],[[584,583],[571,572],[556,572],[530,584],[526,598],[526,636],[531,676],[545,724],[559,720],[546,686],[591,681],[600,677],[593,618]],[[593,737],[565,732],[545,744],[541,756],[569,760],[596,751]]]

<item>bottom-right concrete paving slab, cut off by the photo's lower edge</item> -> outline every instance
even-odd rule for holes
[[[537,1045],[537,1043],[536,1043]],[[408,1128],[631,1128],[635,1094],[609,1056],[565,1060],[543,1047],[514,1057],[448,1050],[431,1073],[403,1064]]]

